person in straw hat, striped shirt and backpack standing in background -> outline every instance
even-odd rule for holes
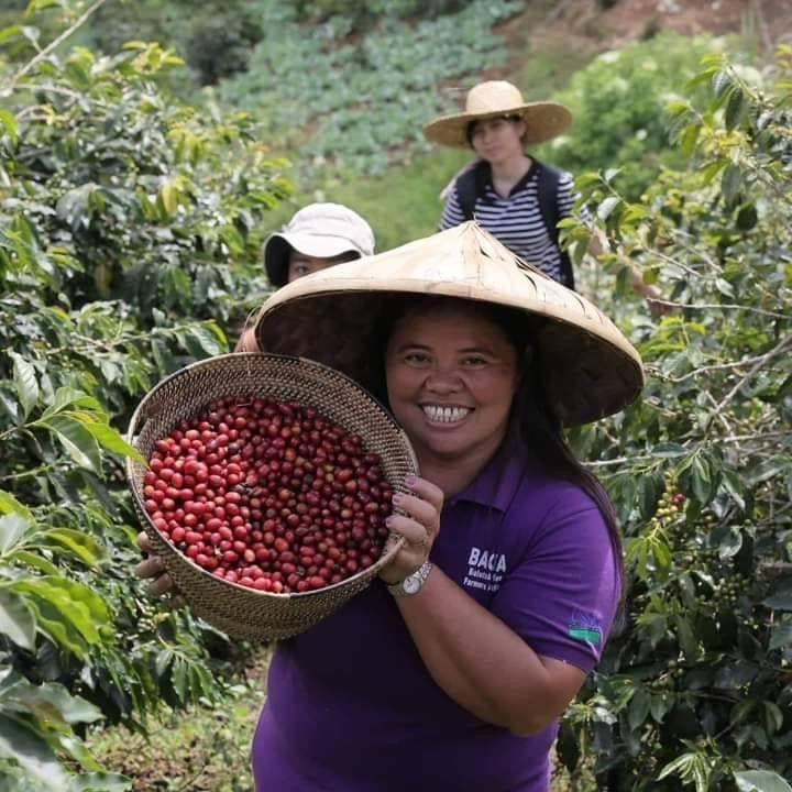
[[[526,102],[512,82],[490,80],[471,88],[464,112],[442,116],[424,128],[428,140],[470,147],[477,155],[443,190],[440,229],[476,220],[520,258],[574,288],[572,263],[559,244],[558,230],[578,197],[572,176],[526,153],[526,146],[559,136],[571,123],[572,113],[563,105]],[[592,254],[606,248],[604,237],[592,238]],[[654,287],[635,271],[630,280],[653,314],[663,312],[652,302],[660,296]]]

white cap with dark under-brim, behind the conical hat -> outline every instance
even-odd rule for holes
[[[292,250],[316,258],[334,258],[343,253],[369,256],[374,253],[374,232],[358,212],[340,204],[309,204],[273,233],[264,246],[264,265],[273,286],[288,278]]]

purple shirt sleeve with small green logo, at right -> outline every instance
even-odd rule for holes
[[[570,486],[505,575],[492,610],[538,654],[588,672],[600,660],[618,598],[605,520],[585,493]]]

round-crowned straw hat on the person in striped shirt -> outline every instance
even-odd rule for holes
[[[472,121],[517,116],[526,123],[522,142],[527,145],[558,138],[572,123],[572,113],[563,105],[526,102],[512,82],[490,80],[468,91],[464,112],[430,121],[424,127],[424,135],[440,145],[469,148],[468,127]]]

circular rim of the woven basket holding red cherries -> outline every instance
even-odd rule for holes
[[[174,372],[173,374],[168,374],[166,377],[163,377],[154,387],[152,387],[148,393],[141,399],[140,404],[138,405],[136,409],[132,414],[132,417],[130,418],[129,426],[127,428],[127,432],[124,435],[124,439],[127,442],[132,446],[133,448],[138,448],[134,442],[135,437],[135,430],[139,428],[138,424],[141,419],[141,416],[144,415],[144,408],[151,404],[151,400],[155,396],[156,393],[158,393],[167,383],[173,382],[174,380],[179,380],[182,377],[188,376],[189,373],[193,371],[208,367],[211,365],[215,365],[217,363],[220,363],[223,360],[233,359],[233,360],[240,360],[240,359],[256,359],[260,361],[264,360],[272,360],[275,362],[290,362],[290,363],[297,363],[299,365],[307,365],[309,367],[312,367],[318,371],[324,371],[331,373],[333,376],[339,377],[341,382],[344,383],[344,386],[349,386],[358,391],[362,396],[364,396],[366,399],[369,399],[378,410],[382,411],[383,417],[393,426],[394,430],[402,437],[404,441],[404,448],[408,452],[410,461],[413,462],[413,465],[416,470],[416,473],[419,471],[418,468],[418,459],[415,453],[415,449],[413,448],[413,443],[409,441],[409,438],[407,437],[407,433],[404,431],[404,429],[399,426],[399,424],[396,421],[396,419],[391,415],[389,410],[369,391],[366,391],[360,383],[358,383],[355,380],[350,377],[349,375],[344,374],[341,371],[338,371],[337,369],[333,369],[332,366],[326,365],[324,363],[319,363],[318,361],[311,360],[310,358],[304,358],[300,355],[287,355],[287,354],[275,354],[275,353],[268,353],[268,352],[229,352],[222,355],[213,355],[211,358],[205,358],[200,361],[195,361],[193,363],[189,363],[188,365],[179,369],[178,371]],[[147,416],[146,416],[147,417]],[[189,566],[191,566],[194,570],[197,570],[201,573],[207,580],[211,580],[216,583],[224,583],[226,585],[233,586],[235,590],[244,593],[245,595],[253,595],[253,596],[263,596],[263,597],[272,597],[273,600],[276,600],[278,602],[285,602],[287,600],[305,600],[311,596],[317,595],[327,595],[328,592],[332,592],[336,590],[346,588],[349,585],[355,581],[359,581],[361,578],[366,578],[369,580],[373,580],[377,576],[377,572],[386,566],[393,558],[396,556],[396,553],[402,549],[404,546],[405,539],[403,536],[399,536],[397,534],[394,534],[391,531],[388,534],[388,538],[385,541],[384,548],[388,548],[387,552],[383,552],[382,556],[371,565],[366,569],[360,570],[359,572],[355,572],[350,578],[345,578],[342,581],[339,581],[338,583],[330,583],[326,586],[322,586],[321,588],[315,588],[307,592],[267,592],[262,591],[260,588],[253,588],[250,586],[243,586],[240,583],[234,583],[233,581],[228,581],[224,578],[220,578],[216,574],[212,574],[211,572],[205,570],[202,566],[198,565],[193,559],[190,559],[187,554],[180,552],[177,548],[175,548],[168,539],[160,531],[160,529],[154,525],[151,516],[145,509],[145,505],[143,503],[142,497],[142,491],[139,492],[139,487],[135,486],[134,483],[134,461],[131,457],[128,457],[124,460],[124,472],[127,474],[127,481],[129,483],[129,488],[132,491],[132,496],[136,503],[138,506],[138,513],[139,516],[143,516],[145,519],[145,525],[143,526],[145,532],[154,539],[156,537],[160,541],[164,542],[167,550],[170,552],[172,558],[176,560],[176,562],[184,562],[187,563]],[[145,464],[145,468],[148,468],[147,461]],[[394,509],[394,513],[396,513],[397,509]],[[166,564],[167,566],[167,564]]]

